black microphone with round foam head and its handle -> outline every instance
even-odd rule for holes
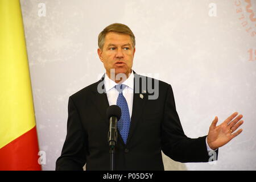
[[[106,117],[109,120],[109,146],[113,149],[117,143],[117,121],[121,118],[120,107],[117,105],[109,106],[106,110]]]

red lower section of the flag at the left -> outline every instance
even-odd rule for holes
[[[0,170],[39,171],[36,127],[0,149]]]

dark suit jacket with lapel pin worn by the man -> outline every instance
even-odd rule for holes
[[[134,78],[148,77],[134,74]],[[69,97],[67,137],[56,161],[56,170],[109,170],[109,107],[106,93],[98,93],[100,81]],[[152,82],[154,83],[155,80]],[[104,86],[104,85],[103,85]],[[134,91],[135,91],[134,85]],[[159,81],[159,97],[148,100],[150,93],[134,93],[130,132],[124,144],[118,133],[115,150],[117,170],[164,170],[161,150],[178,162],[208,162],[205,138],[186,137],[176,111],[172,87]]]

